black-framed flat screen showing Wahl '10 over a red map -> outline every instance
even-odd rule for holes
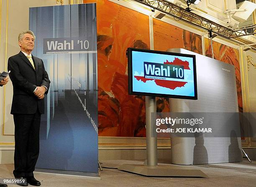
[[[195,55],[128,48],[132,95],[197,99]]]

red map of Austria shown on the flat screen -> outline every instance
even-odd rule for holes
[[[166,60],[164,64],[172,64],[172,65],[180,65],[184,66],[184,69],[190,70],[189,68],[189,62],[188,61],[182,61],[179,58],[174,58],[173,62],[169,62]],[[143,76],[134,76],[137,81],[142,81],[143,83],[146,83],[146,81],[155,81],[156,85],[169,88],[174,90],[178,87],[183,87],[187,82],[181,82],[181,81],[168,81],[168,80],[161,80],[161,79],[153,79],[153,78],[145,78]]]

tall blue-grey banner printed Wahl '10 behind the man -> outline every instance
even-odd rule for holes
[[[29,29],[51,80],[36,168],[98,173],[96,3],[30,8]]]

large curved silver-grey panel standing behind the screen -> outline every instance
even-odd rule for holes
[[[170,99],[171,112],[238,112],[233,65],[181,48],[168,51],[196,55],[197,71],[198,100]],[[239,121],[233,125],[239,126]],[[224,130],[231,133],[230,129]],[[241,162],[241,138],[240,134],[237,136],[172,138],[172,163],[189,165]]]

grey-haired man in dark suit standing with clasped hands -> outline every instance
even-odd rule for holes
[[[20,53],[8,59],[8,71],[13,83],[11,114],[15,125],[14,177],[26,178],[21,186],[40,186],[33,171],[39,154],[39,128],[44,114],[44,94],[50,80],[40,58],[31,55],[35,35],[31,30],[19,34]]]

